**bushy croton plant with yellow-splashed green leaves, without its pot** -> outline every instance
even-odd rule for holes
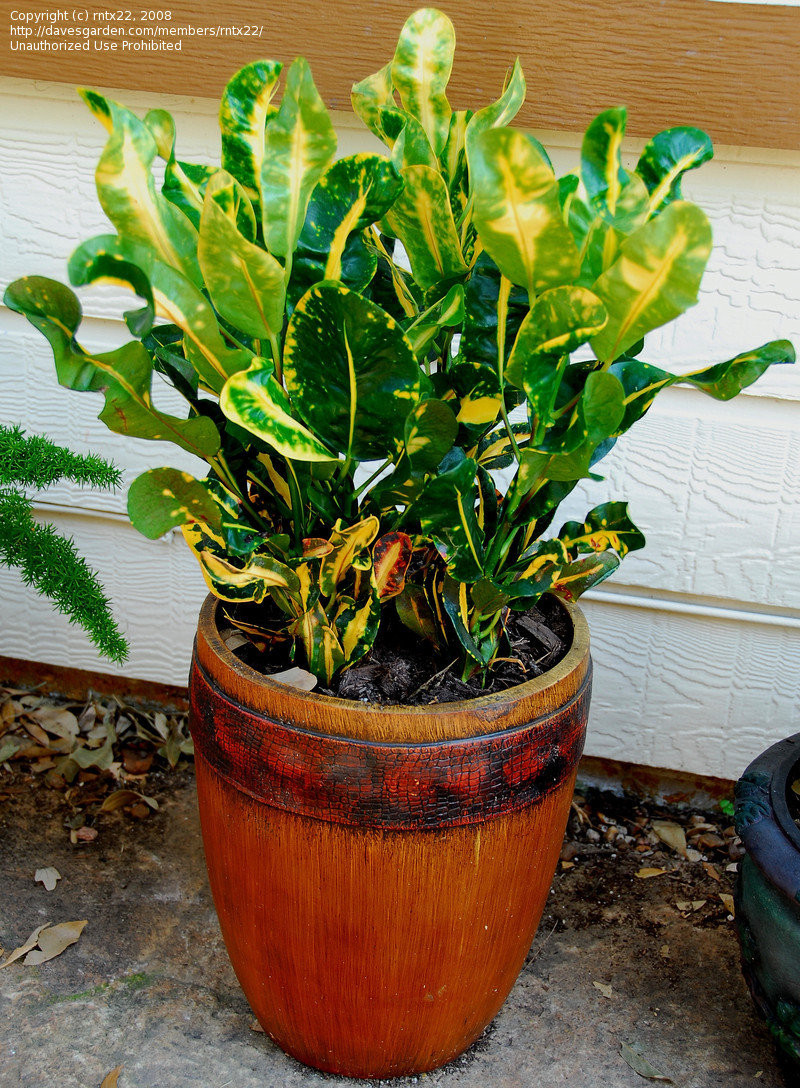
[[[176,158],[169,113],[81,91],[109,132],[97,189],[116,233],[75,250],[70,281],[132,288],[134,338],[82,347],[78,300],[51,280],[5,293],[61,384],[102,393],[112,431],[207,463],[204,479],[140,475],[134,526],[181,527],[233,620],[324,681],[369,652],[384,606],[465,677],[491,669],[509,610],[576,598],[643,545],[621,502],[553,524],[656,393],[688,382],[727,400],[793,359],[783,341],[680,375],[642,359],[644,336],[696,302],[711,251],[680,191],[712,156],[705,134],[660,133],[629,171],[626,112],[610,109],[580,172],[556,177],[508,127],[519,63],[496,101],[454,110],[454,46],[447,16],[422,9],[354,86],[385,154],[336,159],[303,58],[229,83],[221,168]],[[153,372],[184,415],[155,407]]]

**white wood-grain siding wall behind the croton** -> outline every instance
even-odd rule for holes
[[[171,109],[179,154],[213,161],[216,103],[121,97]],[[104,134],[74,91],[54,84],[0,81],[0,116],[3,286],[25,273],[63,279],[74,245],[106,230],[94,193]],[[340,131],[345,152],[371,144],[346,119]],[[574,168],[576,138],[538,135],[558,170]],[[689,175],[685,188],[713,220],[715,250],[700,305],[651,338],[651,361],[690,369],[778,336],[800,344],[799,163],[788,152],[718,149]],[[125,306],[112,290],[85,295],[87,345],[123,338]],[[171,446],[106,431],[99,399],[59,388],[45,341],[2,309],[0,388],[0,418],[104,453],[125,484],[175,463]],[[591,754],[736,777],[767,743],[800,729],[798,399],[796,368],[729,405],[684,388],[662,394],[605,462],[606,481],[570,499],[566,516],[628,498],[649,541],[615,582],[584,598],[596,668]],[[127,672],[184,682],[205,586],[182,540],[138,536],[123,515],[124,491],[52,489],[39,509],[101,571],[132,643]],[[14,572],[0,570],[0,653],[112,671]]]

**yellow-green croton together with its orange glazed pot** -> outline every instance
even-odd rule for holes
[[[518,63],[495,102],[452,109],[454,44],[420,10],[354,86],[385,156],[335,159],[303,59],[227,85],[221,169],[179,160],[163,111],[82,91],[110,134],[116,233],[79,246],[70,279],[133,288],[134,338],[91,354],[67,287],[5,293],[112,430],[208,465],[146,472],[128,511],[147,536],[181,527],[211,590],[190,694],[217,908],[266,1030],[356,1076],[467,1047],[536,931],[588,709],[570,602],[644,543],[626,504],[558,527],[562,499],[660,390],[728,399],[793,359],[786,342],[682,375],[641,358],[711,250],[680,193],[703,133],[661,133],[628,171],[611,109],[556,178],[508,127]],[[153,406],[153,372],[185,417]],[[422,672],[379,705],[405,671],[391,643]]]

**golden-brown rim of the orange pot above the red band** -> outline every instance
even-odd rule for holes
[[[331,708],[357,710],[359,717],[370,717],[373,715],[384,716],[387,712],[402,713],[404,717],[426,717],[431,716],[454,716],[459,714],[470,714],[471,712],[494,709],[508,702],[518,702],[542,697],[546,700],[546,693],[551,689],[559,688],[571,673],[577,673],[581,665],[588,663],[589,658],[589,623],[581,609],[562,597],[555,597],[558,605],[566,611],[573,626],[573,640],[564,657],[552,669],[543,672],[532,680],[526,680],[520,684],[505,688],[503,691],[488,695],[476,695],[473,698],[454,700],[448,703],[430,703],[421,705],[409,705],[406,703],[362,703],[360,700],[342,698],[339,695],[325,695],[321,692],[304,691],[290,684],[281,683],[271,677],[245,665],[236,655],[227,648],[220,636],[218,623],[219,609],[224,602],[220,601],[212,593],[206,597],[200,608],[199,628],[204,631],[204,638],[208,642],[211,652],[225,665],[237,678],[248,685],[255,684],[267,692],[286,694],[291,692],[293,702],[312,705],[323,705]],[[558,700],[561,702],[561,698]]]

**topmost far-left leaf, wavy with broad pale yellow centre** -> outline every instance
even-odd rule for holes
[[[97,165],[97,195],[123,238],[149,246],[159,260],[201,283],[197,231],[158,190],[152,162],[158,147],[150,129],[116,102],[94,90],[78,94],[109,132]]]

